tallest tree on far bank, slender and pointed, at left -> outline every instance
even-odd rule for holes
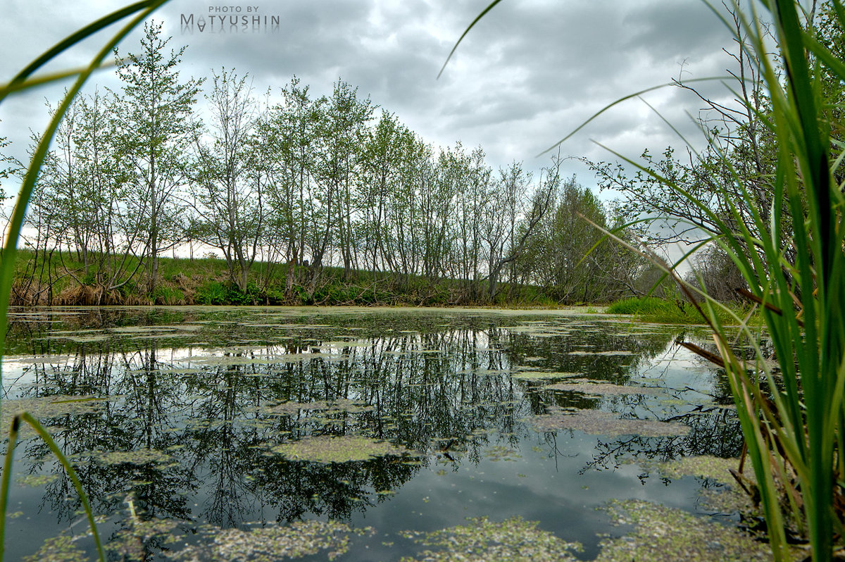
[[[161,24],[144,24],[139,53],[120,57],[117,74],[123,99],[115,104],[121,157],[133,166],[130,178],[144,234],[147,286],[155,292],[158,255],[183,237],[175,195],[187,177],[185,162],[196,137],[193,110],[202,80],[179,83],[178,64],[186,47],[166,54],[171,38],[161,39]]]

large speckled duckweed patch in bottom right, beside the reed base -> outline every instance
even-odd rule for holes
[[[615,525],[634,525],[624,537],[602,541],[596,562],[750,562],[771,560],[766,543],[685,511],[641,499],[613,500],[607,507]]]

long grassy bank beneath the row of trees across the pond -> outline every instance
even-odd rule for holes
[[[75,254],[53,254],[42,259],[20,250],[15,264],[14,305],[97,304],[214,304],[214,305],[388,305],[450,306],[510,305],[556,307],[558,303],[533,286],[499,284],[492,300],[483,283],[431,279],[425,276],[373,275],[370,271],[303,265],[255,263],[248,285],[241,290],[232,282],[226,261],[202,258],[160,258],[155,288],[137,259],[123,270],[138,270],[129,281],[110,282],[109,268],[85,265]],[[292,270],[291,270],[292,268]]]

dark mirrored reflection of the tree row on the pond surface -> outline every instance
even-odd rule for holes
[[[670,329],[482,313],[451,319],[442,313],[161,314],[49,313],[19,319],[11,331],[9,348],[17,355],[10,360],[23,363],[19,376],[8,379],[7,396],[107,399],[84,412],[41,416],[74,460],[96,513],[125,514],[131,503],[141,518],[217,527],[314,517],[349,521],[390,499],[423,468],[438,462],[453,470],[472,467],[492,445],[519,450],[523,440],[537,441],[526,420],[549,406],[690,426],[684,436],[599,438],[581,473],[619,467],[624,457],[739,452],[733,412],[689,401],[690,394],[701,399],[701,392],[725,392],[714,374],[698,393],[659,374],[636,383],[649,369],[659,371],[656,357],[671,347]],[[68,339],[84,330],[107,337]],[[614,350],[619,354],[608,353]],[[648,384],[662,394],[548,390],[553,380],[511,376],[526,369]],[[10,409],[4,404],[3,412]],[[549,455],[570,454],[562,434],[571,432],[542,435]],[[415,453],[320,463],[272,450],[325,435],[384,440]],[[19,470],[55,475],[43,488],[41,508],[60,527],[74,521],[79,505],[43,442],[27,439],[19,450]],[[118,516],[115,525],[112,537],[127,523]],[[163,547],[151,540],[145,548]]]

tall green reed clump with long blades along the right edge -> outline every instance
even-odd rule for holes
[[[755,14],[742,13],[750,54],[762,63],[771,115],[762,120],[777,139],[777,166],[770,178],[771,219],[733,175],[743,194],[730,210],[735,224],[750,211],[757,238],[747,228],[722,230],[715,238],[742,271],[751,298],[762,305],[777,371],[762,361],[748,370],[713,319],[714,339],[725,363],[748,453],[755,470],[775,558],[791,559],[786,526],[810,541],[812,559],[833,557],[842,535],[843,402],[845,389],[845,252],[842,185],[835,179],[842,157],[831,156],[820,70],[845,79],[845,65],[817,41],[793,0],[764,3],[779,46],[781,79],[767,56]],[[845,11],[834,0],[840,25]],[[714,9],[715,11],[715,9]],[[730,162],[726,162],[730,164]],[[727,191],[722,194],[728,198]],[[703,205],[702,205],[703,207]],[[748,251],[747,248],[757,248]],[[710,308],[715,308],[712,300]],[[750,330],[746,327],[750,333]],[[837,507],[838,506],[838,507]]]

